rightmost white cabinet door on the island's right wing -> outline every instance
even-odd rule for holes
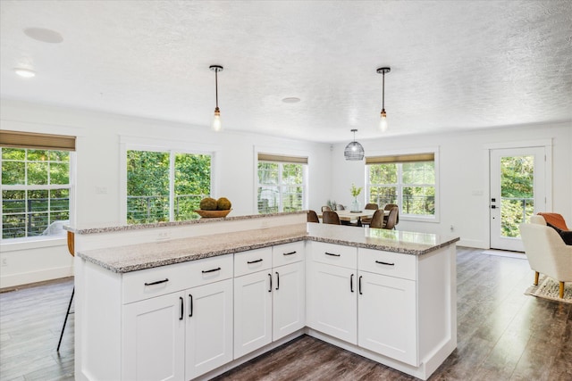
[[[359,272],[358,345],[418,366],[416,282]]]

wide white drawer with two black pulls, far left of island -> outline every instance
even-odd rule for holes
[[[123,274],[123,303],[137,302],[232,277],[232,254]]]

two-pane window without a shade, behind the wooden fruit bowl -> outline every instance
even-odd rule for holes
[[[127,151],[127,222],[198,219],[211,194],[211,155]]]

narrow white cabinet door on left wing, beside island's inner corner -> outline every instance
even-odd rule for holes
[[[304,262],[273,269],[273,340],[306,326]]]

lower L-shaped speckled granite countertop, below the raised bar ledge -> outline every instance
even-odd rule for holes
[[[441,237],[400,230],[308,223],[281,228],[173,239],[160,243],[131,244],[89,250],[77,253],[77,255],[104,269],[116,273],[125,273],[301,240],[422,255],[454,244],[458,239],[458,237]]]

